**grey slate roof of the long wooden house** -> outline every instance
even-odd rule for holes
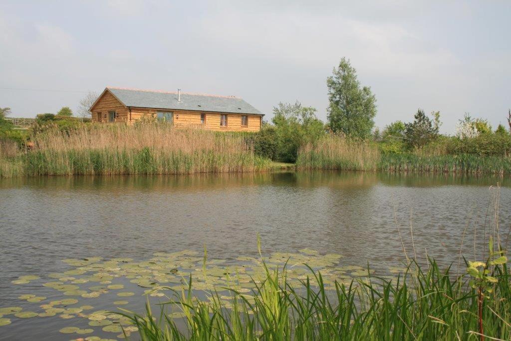
[[[263,115],[261,111],[254,108],[243,99],[234,96],[214,96],[181,92],[181,101],[179,102],[177,100],[177,93],[110,86],[108,86],[107,89],[124,105],[131,107],[217,111],[229,113],[238,112],[252,115]]]

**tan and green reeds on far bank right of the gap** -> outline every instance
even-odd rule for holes
[[[381,170],[466,174],[511,174],[511,158],[449,155],[444,149],[415,150],[408,153],[381,153],[367,141],[351,141],[329,135],[298,152],[297,167],[304,169]]]

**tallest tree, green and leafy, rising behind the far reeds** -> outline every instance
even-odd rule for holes
[[[373,130],[376,98],[368,86],[361,86],[350,60],[342,58],[327,78],[330,128],[357,138],[367,138]]]

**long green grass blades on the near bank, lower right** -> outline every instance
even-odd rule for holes
[[[160,313],[148,304],[145,316],[126,316],[142,340],[508,340],[511,274],[505,261],[492,262],[480,269],[491,278],[488,286],[475,274],[457,276],[430,260],[426,269],[410,262],[391,280],[335,282],[333,291],[312,268],[301,285],[292,286],[286,266],[265,265],[266,278],[253,280],[251,292],[229,289],[226,297],[211,291],[201,298],[192,290],[175,291]],[[469,271],[476,265],[470,263]],[[168,308],[174,313],[167,314]]]

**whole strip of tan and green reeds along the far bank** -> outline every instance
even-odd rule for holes
[[[294,169],[511,174],[511,158],[445,150],[384,152],[370,141],[329,135],[299,148],[296,164],[272,162],[249,134],[169,124],[82,126],[34,135],[31,149],[0,141],[0,177],[193,174]],[[260,142],[259,142],[260,143]]]

